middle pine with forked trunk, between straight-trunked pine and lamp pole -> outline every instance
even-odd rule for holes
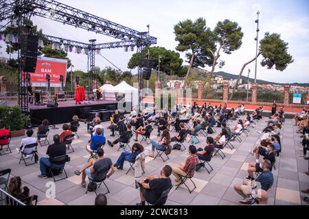
[[[221,50],[225,54],[231,54],[232,51],[238,50],[242,45],[242,27],[238,26],[238,23],[229,21],[219,21],[214,29],[214,34],[216,34],[216,44],[218,44],[218,49],[216,52],[211,52],[214,57],[214,61],[211,66],[210,75],[214,73],[216,65],[218,64],[218,59],[220,58]],[[225,64],[224,61],[220,62],[220,67]]]

